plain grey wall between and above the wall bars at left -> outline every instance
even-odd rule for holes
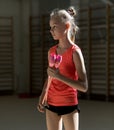
[[[29,16],[47,13],[56,7],[67,8],[69,5],[70,0],[0,0],[0,16],[13,16],[14,19],[16,93],[26,93],[30,89]]]

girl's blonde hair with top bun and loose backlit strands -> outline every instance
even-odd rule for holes
[[[75,24],[76,14],[76,10],[73,6],[70,6],[67,10],[54,9],[50,14],[50,18],[56,18],[57,20],[61,20],[61,22],[64,23],[70,22],[71,26],[68,31],[67,37],[72,42],[75,42],[75,35],[79,29],[78,26]]]

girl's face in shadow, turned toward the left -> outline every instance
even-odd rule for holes
[[[65,23],[60,22],[57,19],[50,19],[50,32],[54,40],[60,40],[66,37],[66,26]]]

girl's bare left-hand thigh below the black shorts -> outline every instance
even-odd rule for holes
[[[62,130],[62,118],[46,109],[46,123],[48,130]]]

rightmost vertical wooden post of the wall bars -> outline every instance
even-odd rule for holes
[[[109,100],[110,96],[110,6],[106,6],[106,31],[107,31],[107,42],[106,42],[106,100]]]

